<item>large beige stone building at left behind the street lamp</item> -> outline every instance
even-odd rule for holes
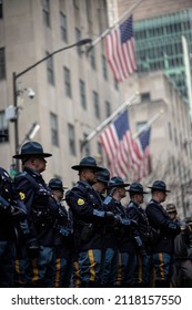
[[[81,39],[94,39],[108,28],[105,1],[7,0],[0,6],[0,132],[1,165],[10,169],[16,153],[12,74],[17,76],[49,54]],[[98,136],[81,149],[80,144],[122,103],[121,85],[107,65],[104,46],[89,54],[88,45],[74,46],[48,58],[17,79],[18,145],[33,137],[53,154],[46,178],[60,176],[69,187],[77,179],[71,166],[82,156],[101,153]],[[30,95],[31,89],[36,92]],[[7,113],[10,114],[10,113]]]

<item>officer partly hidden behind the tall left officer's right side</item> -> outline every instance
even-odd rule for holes
[[[54,199],[59,206],[59,216],[54,223],[57,230],[55,238],[55,261],[53,264],[55,288],[68,288],[71,282],[73,266],[73,228],[71,210],[63,205],[64,187],[62,180],[53,177],[49,182]]]

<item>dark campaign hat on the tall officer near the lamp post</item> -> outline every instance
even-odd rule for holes
[[[31,155],[38,155],[38,156],[42,156],[42,157],[50,157],[52,156],[52,154],[50,153],[44,153],[42,145],[39,142],[27,142],[21,146],[21,153],[20,154],[16,154],[12,157],[17,158],[17,159],[22,159],[27,156],[31,156]]]

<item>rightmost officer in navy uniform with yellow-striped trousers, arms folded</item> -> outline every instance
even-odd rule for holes
[[[146,215],[154,231],[152,246],[152,266],[154,272],[154,286],[158,288],[170,287],[174,238],[180,234],[180,226],[174,223],[161,205],[165,202],[166,185],[163,180],[155,180],[151,188],[152,199],[146,206]]]

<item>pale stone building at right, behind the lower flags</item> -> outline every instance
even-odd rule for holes
[[[162,72],[135,74],[127,83],[127,96],[139,92],[138,101],[129,107],[133,136],[150,124],[151,167],[141,179],[150,186],[164,179],[171,194],[168,202],[176,204],[181,217],[191,215],[192,148],[189,106],[172,81]]]

